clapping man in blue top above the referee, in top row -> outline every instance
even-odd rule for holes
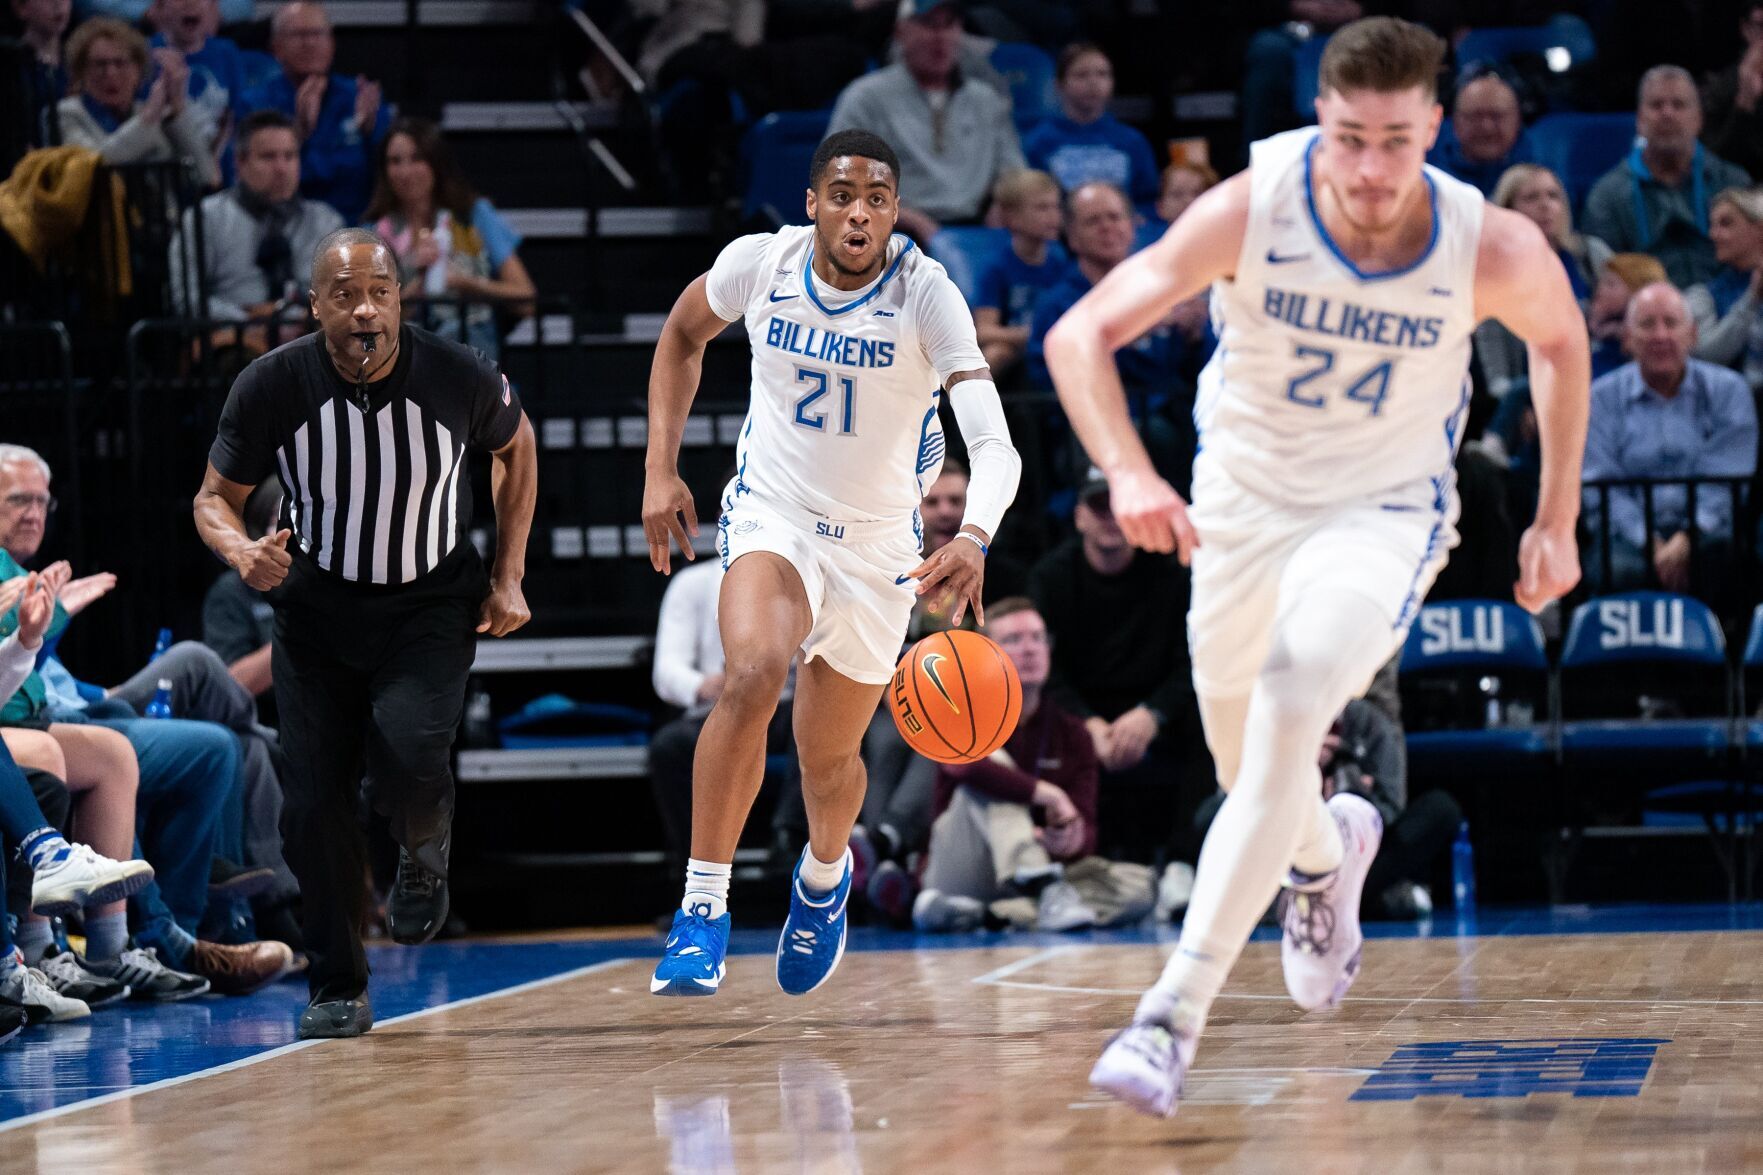
[[[275,11],[270,51],[282,67],[245,94],[250,109],[279,109],[300,136],[300,194],[323,199],[354,224],[374,187],[374,148],[391,122],[379,83],[330,72],[337,58],[324,7],[294,0]]]

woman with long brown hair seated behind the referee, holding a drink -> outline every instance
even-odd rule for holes
[[[520,263],[520,233],[488,199],[478,196],[453,162],[441,127],[427,118],[398,118],[379,152],[379,175],[367,222],[398,254],[404,296],[439,298],[423,307],[423,321],[450,339],[462,339],[488,358],[501,353],[495,305],[525,316],[536,289]],[[467,298],[465,330],[458,328]],[[411,305],[416,311],[416,305]]]

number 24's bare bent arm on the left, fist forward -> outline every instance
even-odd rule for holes
[[[1151,469],[1127,411],[1114,351],[1178,302],[1231,277],[1246,222],[1243,171],[1194,201],[1162,240],[1121,261],[1047,332],[1053,386],[1084,452],[1107,475],[1121,531],[1135,547],[1176,550],[1183,563],[1197,543],[1186,505]]]

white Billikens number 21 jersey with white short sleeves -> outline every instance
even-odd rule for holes
[[[915,526],[943,466],[941,386],[986,365],[973,318],[943,266],[906,236],[857,291],[813,275],[813,226],[732,242],[705,293],[742,318],[753,400],[726,505],[742,494],[853,522]]]

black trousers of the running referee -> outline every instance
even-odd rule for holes
[[[460,543],[434,572],[397,588],[351,584],[296,552],[270,596],[282,838],[300,880],[314,1000],[367,990],[363,771],[393,840],[446,877],[453,734],[487,593],[478,552]]]

